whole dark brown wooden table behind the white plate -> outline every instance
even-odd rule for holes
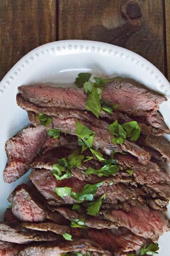
[[[125,47],[170,80],[170,0],[0,0],[0,79],[35,47],[63,39]]]

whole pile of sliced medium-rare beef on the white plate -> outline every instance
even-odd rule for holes
[[[170,200],[170,175],[164,167],[170,162],[170,142],[163,137],[170,130],[158,111],[165,97],[142,86],[111,82],[103,90],[102,100],[119,104],[119,108],[112,114],[101,111],[97,119],[86,111],[87,95],[81,89],[34,84],[18,91],[17,104],[28,112],[33,126],[6,142],[8,162],[3,178],[12,183],[31,168],[34,185],[21,184],[8,197],[12,206],[0,223],[0,255],[52,256],[74,251],[126,256],[157,242],[170,229],[164,214]],[[36,119],[40,113],[51,118],[48,127]],[[76,119],[95,132],[93,148],[106,158],[114,150],[126,153],[114,155],[117,174],[86,175],[88,166],[102,167],[95,158],[72,168],[71,178],[59,181],[52,174],[53,164],[78,147]],[[136,120],[141,128],[138,140],[112,144],[108,126],[115,120],[120,124]],[[47,135],[50,128],[62,131],[59,138]],[[133,175],[126,172],[129,169]],[[94,200],[104,193],[105,198],[96,216],[87,215],[84,206],[81,213],[73,210],[77,201],[69,195],[60,198],[55,192],[55,187],[80,192],[85,184],[99,182],[103,183]],[[84,219],[86,229],[71,228],[75,219]],[[64,233],[72,235],[73,241],[66,241]]]

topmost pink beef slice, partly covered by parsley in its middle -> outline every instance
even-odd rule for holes
[[[25,100],[39,106],[85,110],[87,95],[82,89],[33,84],[20,86],[18,91]],[[111,82],[102,91],[102,100],[119,104],[120,112],[142,115],[145,111],[157,110],[159,104],[167,99],[145,87],[126,82]]]

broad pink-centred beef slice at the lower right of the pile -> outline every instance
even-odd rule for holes
[[[120,227],[130,229],[137,236],[151,238],[153,241],[168,231],[168,221],[161,212],[151,210],[145,206],[132,207],[131,211],[112,210],[102,211],[104,217],[117,223]]]

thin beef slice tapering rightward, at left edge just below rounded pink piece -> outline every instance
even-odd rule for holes
[[[12,228],[9,225],[1,222],[0,240],[17,244],[25,244],[32,241],[60,241],[61,238],[59,237],[59,235],[56,235],[50,231],[41,232],[24,229],[20,225],[17,225],[17,227]]]

